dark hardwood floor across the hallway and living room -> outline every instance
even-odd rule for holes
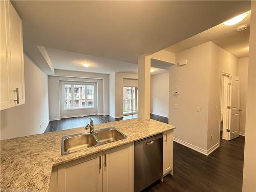
[[[89,116],[95,124],[137,118],[128,115],[114,119],[110,116]],[[151,114],[151,119],[168,123],[168,118]],[[85,126],[89,119],[68,118],[51,121],[46,132]],[[226,141],[221,139],[220,147],[209,156],[174,142],[174,176],[167,175],[164,182],[157,181],[143,191],[242,191],[244,160],[244,137]]]

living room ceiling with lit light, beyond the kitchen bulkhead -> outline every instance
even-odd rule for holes
[[[113,72],[138,73],[138,65],[134,63],[84,55],[69,51],[46,48],[48,56],[54,69],[83,71],[91,73],[110,74]],[[88,63],[90,67],[86,68],[83,63]],[[152,75],[168,72],[167,70],[154,68]]]

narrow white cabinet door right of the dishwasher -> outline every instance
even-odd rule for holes
[[[163,133],[163,176],[173,175],[173,130]]]

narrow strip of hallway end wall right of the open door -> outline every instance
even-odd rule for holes
[[[238,59],[238,76],[241,83],[241,100],[240,100],[240,133],[245,134],[245,117],[246,117],[246,96],[248,82],[248,63],[249,57]]]

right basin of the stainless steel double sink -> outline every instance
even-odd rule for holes
[[[125,135],[116,130],[114,127],[96,130],[94,131],[94,135],[97,137],[100,144],[109,143],[126,138]]]

